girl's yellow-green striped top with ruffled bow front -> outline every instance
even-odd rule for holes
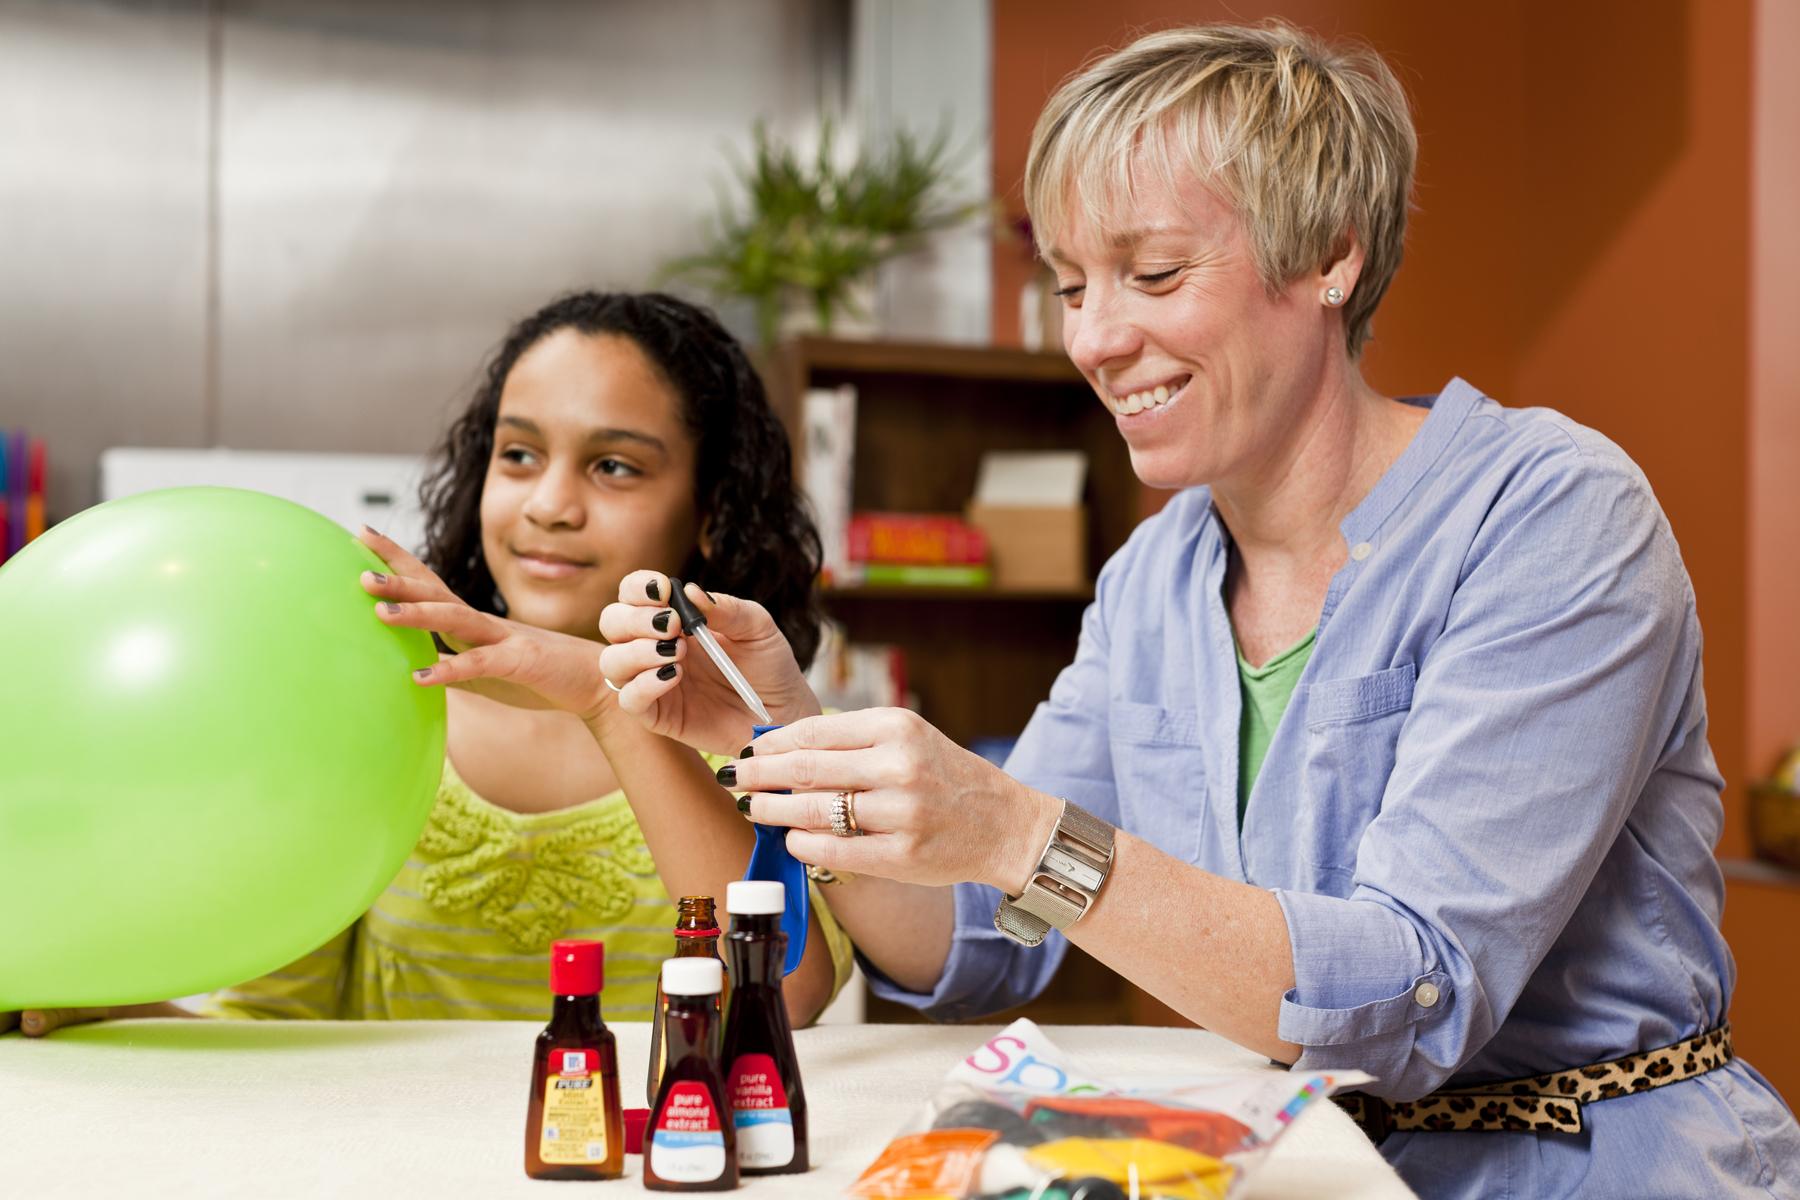
[[[709,757],[711,766],[725,759]],[[833,993],[850,939],[812,889]],[[445,759],[437,804],[407,865],[347,930],[299,963],[212,993],[207,1016],[542,1020],[556,937],[607,943],[607,1020],[648,1020],[675,905],[625,792],[549,813],[477,795]]]

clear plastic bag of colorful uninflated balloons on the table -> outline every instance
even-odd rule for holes
[[[1030,1020],[956,1065],[850,1186],[859,1200],[1229,1200],[1309,1105],[1361,1072],[1103,1079]]]

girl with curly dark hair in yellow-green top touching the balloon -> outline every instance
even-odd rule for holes
[[[724,759],[648,732],[605,685],[599,617],[628,576],[675,576],[707,606],[706,588],[754,597],[810,657],[819,536],[787,434],[709,313],[668,295],[580,291],[506,335],[423,498],[425,561],[362,536],[391,569],[364,576],[380,619],[436,630],[457,651],[419,673],[464,684],[448,691],[430,822],[356,925],[212,997],[209,1011],[536,1016],[551,941],[603,937],[607,1016],[648,1018],[673,948],[670,898],[722,898],[754,838],[713,777]],[[691,671],[702,685],[713,667],[688,655],[671,617],[653,617],[666,639],[646,653],[664,678]],[[850,973],[850,943],[815,887],[812,909],[785,988],[797,1020]]]

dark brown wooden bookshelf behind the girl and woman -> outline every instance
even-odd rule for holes
[[[853,507],[959,513],[990,450],[1087,453],[1089,581],[1067,590],[851,587],[824,604],[851,640],[905,651],[920,712],[956,741],[1015,736],[1075,658],[1093,576],[1139,516],[1112,416],[1062,354],[805,336],[765,363],[790,430],[812,387],[857,389]],[[801,444],[796,437],[796,444]],[[1177,1024],[1116,973],[1069,952],[1051,988],[1008,1013],[1051,1024]],[[920,1020],[869,999],[869,1020]],[[985,1018],[995,1020],[995,1018]]]

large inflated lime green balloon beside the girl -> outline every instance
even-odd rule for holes
[[[0,569],[0,1011],[139,1004],[319,948],[430,813],[428,635],[311,509],[176,488]]]

